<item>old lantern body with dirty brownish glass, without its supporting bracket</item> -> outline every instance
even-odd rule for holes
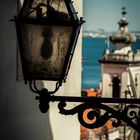
[[[82,18],[70,0],[24,0],[15,16],[24,80],[61,83],[67,76]]]

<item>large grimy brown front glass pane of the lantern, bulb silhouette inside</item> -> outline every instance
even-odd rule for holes
[[[21,24],[20,30],[25,77],[60,79],[73,28]]]

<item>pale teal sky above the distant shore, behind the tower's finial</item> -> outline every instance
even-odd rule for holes
[[[129,30],[140,31],[140,0],[83,0],[83,30],[116,31],[122,7],[126,7]]]

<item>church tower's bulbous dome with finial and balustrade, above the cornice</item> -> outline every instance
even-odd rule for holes
[[[132,50],[133,42],[136,41],[136,36],[128,31],[128,22],[124,15],[126,12],[123,8],[122,18],[118,22],[119,29],[109,37],[106,42],[106,48],[103,53],[100,63],[107,64],[140,64],[140,51],[134,53]],[[109,51],[109,41],[113,43],[113,50]]]

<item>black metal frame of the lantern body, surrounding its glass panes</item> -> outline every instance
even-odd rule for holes
[[[32,0],[31,0],[32,1]],[[18,16],[14,17],[14,21],[16,24],[16,31],[17,31],[17,38],[18,38],[18,43],[19,43],[19,50],[20,50],[20,56],[21,56],[21,62],[22,62],[22,69],[23,69],[23,75],[24,75],[24,80],[27,83],[27,81],[32,81],[32,80],[50,80],[50,81],[59,81],[60,84],[62,84],[68,74],[70,64],[73,58],[73,54],[75,51],[76,47],[76,42],[80,33],[81,25],[84,23],[83,18],[81,17],[80,19],[77,16],[77,12],[75,11],[72,1],[70,0],[63,0],[65,2],[65,5],[67,7],[68,13],[69,13],[69,19],[68,20],[55,20],[51,18],[43,18],[41,13],[38,14],[38,9],[40,7],[44,6],[47,7],[48,5],[45,5],[44,3],[39,3],[35,8],[31,8],[31,11],[27,12],[26,14],[23,12],[24,9],[26,9],[26,5],[29,3],[28,0],[25,0],[23,3],[23,6],[18,14]],[[37,16],[36,18],[32,18],[28,16],[32,14],[33,12],[36,12]],[[63,64],[63,69],[61,72],[61,75],[59,78],[50,78],[46,79],[43,76],[41,78],[38,77],[32,77],[28,74],[26,70],[26,65],[25,65],[25,60],[23,56],[23,41],[21,40],[21,25],[22,24],[29,24],[29,25],[42,25],[42,26],[58,26],[58,27],[72,27],[72,33],[71,33],[71,39],[68,45],[68,50],[65,56],[64,64]]]

